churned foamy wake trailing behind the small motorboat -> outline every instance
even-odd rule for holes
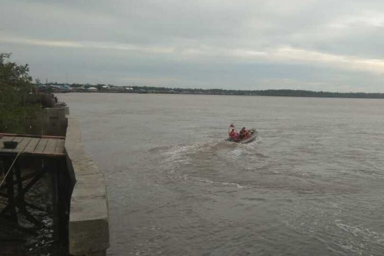
[[[244,188],[234,176],[236,172],[249,171],[249,166],[259,159],[260,140],[248,144],[211,139],[193,144],[179,144],[158,148],[159,168],[169,179],[205,182],[214,185]]]

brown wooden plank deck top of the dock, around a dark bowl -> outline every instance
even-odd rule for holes
[[[37,136],[10,136],[0,134],[0,155],[1,154],[18,154],[22,152],[29,155],[44,156],[65,156],[64,142],[62,137],[37,137]],[[16,148],[4,148],[4,141],[17,141]]]

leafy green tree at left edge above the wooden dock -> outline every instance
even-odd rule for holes
[[[29,119],[41,108],[33,97],[29,66],[9,61],[10,53],[0,53],[0,132],[25,133]]]

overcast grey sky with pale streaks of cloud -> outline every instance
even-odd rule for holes
[[[0,52],[45,81],[384,92],[382,0],[0,0]]]

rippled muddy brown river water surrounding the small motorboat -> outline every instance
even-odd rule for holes
[[[108,182],[109,255],[384,255],[384,100],[58,96]]]

